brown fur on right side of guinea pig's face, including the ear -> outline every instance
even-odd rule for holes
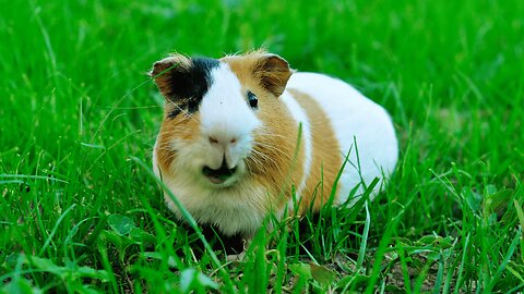
[[[278,100],[291,70],[287,62],[274,60],[274,56],[270,58],[272,60],[269,62],[263,51],[255,51],[226,57],[222,61],[229,64],[240,81],[242,90],[250,90],[259,98],[258,117],[264,127],[254,134],[253,152],[247,159],[247,166],[253,181],[271,187],[271,206],[281,210],[289,199],[291,185],[298,186],[303,177],[305,151],[303,138],[300,144],[297,143],[298,128],[291,113]],[[269,68],[264,68],[266,65]],[[269,133],[270,131],[272,132]]]

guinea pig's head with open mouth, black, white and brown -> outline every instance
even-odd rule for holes
[[[174,54],[151,72],[166,99],[157,164],[172,176],[227,188],[263,164],[258,148],[291,75],[288,63],[263,51],[223,59]],[[278,112],[278,110],[276,110]]]

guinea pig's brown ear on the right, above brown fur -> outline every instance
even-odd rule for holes
[[[260,79],[261,86],[276,97],[284,93],[287,81],[293,73],[285,59],[270,53],[265,53],[259,59],[253,72],[255,77]]]

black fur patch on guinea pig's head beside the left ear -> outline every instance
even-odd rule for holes
[[[193,58],[188,69],[174,68],[169,73],[172,86],[170,98],[180,108],[186,108],[189,113],[194,113],[202,98],[213,84],[211,71],[218,68],[219,61],[211,58]],[[172,119],[180,113],[177,108],[168,118]]]

